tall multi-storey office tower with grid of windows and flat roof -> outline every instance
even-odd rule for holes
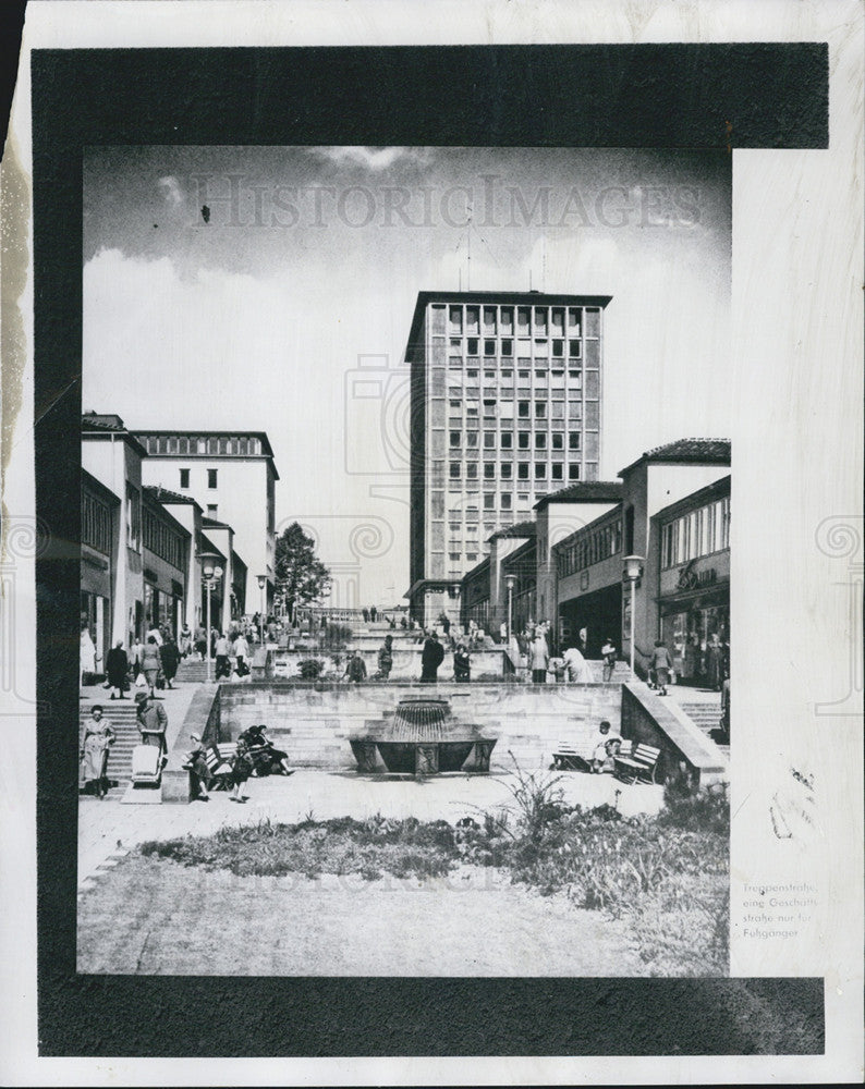
[[[411,366],[411,587],[422,623],[534,503],[598,478],[609,296],[421,292]]]

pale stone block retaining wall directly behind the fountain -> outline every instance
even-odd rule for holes
[[[621,718],[621,685],[513,684],[267,684],[222,685],[220,739],[232,741],[263,722],[292,763],[329,770],[355,767],[349,737],[367,720],[392,711],[406,696],[450,701],[462,722],[498,734],[492,766],[512,769],[509,750],[526,771],[548,768],[561,742],[590,749],[598,722]]]

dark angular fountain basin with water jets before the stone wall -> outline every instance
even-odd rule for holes
[[[358,771],[386,769],[404,775],[444,771],[489,772],[496,737],[480,726],[460,722],[447,699],[427,696],[401,699],[394,711],[367,719],[363,734],[350,738]]]

